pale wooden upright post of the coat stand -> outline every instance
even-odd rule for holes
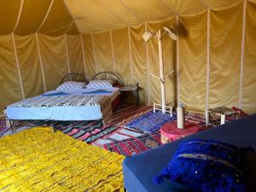
[[[164,61],[163,61],[163,49],[161,41],[161,30],[157,32],[158,38],[158,51],[159,51],[159,65],[160,65],[160,87],[161,87],[161,99],[162,99],[162,113],[166,113],[166,87],[165,87],[165,74],[164,74]]]

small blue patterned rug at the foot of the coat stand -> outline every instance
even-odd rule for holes
[[[137,119],[133,119],[130,123],[125,126],[130,128],[139,129],[145,133],[153,133],[154,131],[160,130],[161,125],[164,125],[166,122],[172,121],[176,119],[176,114],[173,114],[171,117],[168,113],[157,112],[148,112],[138,117]]]

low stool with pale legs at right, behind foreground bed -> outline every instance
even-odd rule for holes
[[[207,112],[208,116],[209,116],[209,113],[212,113],[212,114],[220,116],[220,125],[224,125],[226,116],[230,116],[230,115],[236,114],[236,119],[239,119],[239,116],[240,116],[237,111],[235,111],[232,108],[227,108],[225,106],[220,106],[220,107],[217,107],[217,108],[211,108]],[[210,119],[208,118],[208,121],[209,120]],[[208,124],[208,123],[209,122],[206,122],[206,124]]]

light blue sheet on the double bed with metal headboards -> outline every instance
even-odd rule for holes
[[[111,102],[119,96],[119,88],[102,89],[111,91],[108,93],[93,94],[91,92],[99,89],[81,89],[81,90],[65,90],[57,91],[51,90],[45,94],[53,94],[58,92],[65,92],[73,96],[110,96]],[[55,106],[55,107],[32,107],[32,108],[13,108],[7,107],[7,117],[9,119],[34,119],[34,120],[94,120],[102,119],[102,111],[100,105],[92,106]]]

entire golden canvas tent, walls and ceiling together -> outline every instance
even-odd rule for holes
[[[113,71],[139,82],[142,102],[160,102],[157,40],[143,46],[142,35],[173,25],[166,102],[256,112],[255,0],[2,0],[0,15],[1,112],[69,72]]]

